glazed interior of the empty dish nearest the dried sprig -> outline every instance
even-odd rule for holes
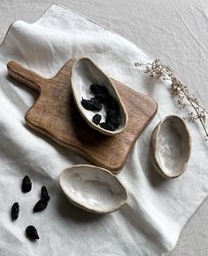
[[[166,175],[181,174],[189,159],[189,133],[181,119],[167,118],[158,130],[158,164]]]

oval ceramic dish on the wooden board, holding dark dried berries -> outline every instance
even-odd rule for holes
[[[96,66],[89,58],[78,58],[75,61],[72,68],[71,84],[73,89],[74,102],[77,105],[79,112],[81,112],[82,117],[88,122],[91,128],[96,129],[97,131],[106,136],[113,136],[119,134],[127,127],[127,111],[119,97],[117,89],[115,89],[112,81],[108,78],[108,76],[104,74],[103,71],[101,71],[100,68]],[[99,125],[96,125],[92,121],[92,118],[96,113],[99,113],[102,116],[101,122],[105,121],[106,108],[104,106],[102,107],[101,111],[93,112],[86,110],[81,105],[82,98],[90,99],[91,97],[94,97],[89,89],[91,84],[98,84],[106,87],[112,98],[117,101],[119,105],[119,115],[121,123],[119,125],[119,128],[117,128],[116,130],[110,131],[101,128]]]

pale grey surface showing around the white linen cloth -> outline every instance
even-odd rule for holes
[[[12,21],[33,22],[52,3],[51,0],[1,0],[0,42]],[[181,81],[200,92],[198,99],[208,107],[203,94],[203,86],[208,86],[208,63],[205,61],[208,59],[207,1],[57,0],[56,3],[94,19],[123,35],[151,57],[172,66]],[[207,228],[206,200],[182,231],[171,256],[207,256]]]

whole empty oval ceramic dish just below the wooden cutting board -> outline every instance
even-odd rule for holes
[[[59,183],[73,205],[92,213],[111,213],[127,202],[127,190],[104,168],[77,165],[61,172]]]

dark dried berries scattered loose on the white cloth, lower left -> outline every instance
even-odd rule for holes
[[[30,178],[26,175],[22,180],[21,190],[23,193],[27,193],[32,189],[32,182]],[[48,206],[48,202],[50,200],[50,195],[46,186],[42,186],[41,189],[41,199],[35,204],[34,212],[40,212]],[[11,210],[12,221],[15,221],[19,217],[19,203],[15,202],[12,206]],[[30,225],[26,229],[26,235],[30,239],[39,239],[37,230],[34,226]]]

